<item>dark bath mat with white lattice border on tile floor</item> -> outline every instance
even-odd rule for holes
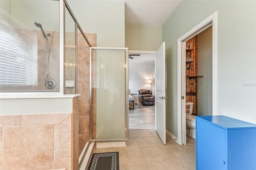
[[[88,170],[119,170],[118,152],[92,154]]]

